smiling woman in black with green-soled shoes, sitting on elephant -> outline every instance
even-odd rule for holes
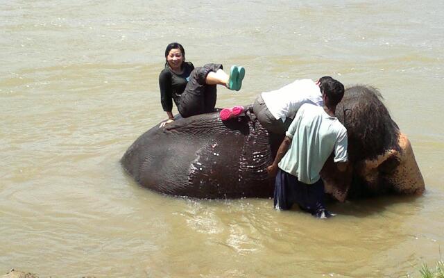
[[[231,67],[230,76],[221,64],[207,64],[196,67],[185,62],[185,49],[172,42],[165,49],[165,68],[159,75],[160,101],[169,120],[174,120],[173,101],[182,117],[190,117],[214,111],[216,106],[216,85],[225,85],[230,90],[240,90],[245,76],[244,67]]]

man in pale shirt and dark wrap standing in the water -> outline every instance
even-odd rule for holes
[[[341,172],[345,171],[348,140],[345,126],[334,116],[344,86],[329,76],[320,79],[320,83],[323,106],[302,104],[298,108],[267,171],[276,175],[275,208],[290,209],[298,204],[318,218],[328,218],[331,214],[325,209],[319,172],[333,151],[334,162]]]

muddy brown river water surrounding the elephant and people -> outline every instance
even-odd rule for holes
[[[443,259],[444,2],[213,2],[0,1],[0,274],[418,277]],[[329,204],[323,221],[138,186],[119,159],[166,117],[173,41],[194,65],[246,67],[219,107],[324,75],[379,88],[425,194]]]

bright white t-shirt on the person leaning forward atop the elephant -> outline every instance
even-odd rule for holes
[[[294,118],[302,104],[323,106],[321,89],[311,79],[296,80],[278,90],[262,92],[262,99],[271,115],[282,122],[287,117]]]

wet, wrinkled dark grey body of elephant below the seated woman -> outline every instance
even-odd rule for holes
[[[160,193],[198,198],[268,197],[271,152],[266,131],[245,117],[219,113],[157,124],[121,159],[135,180]]]

